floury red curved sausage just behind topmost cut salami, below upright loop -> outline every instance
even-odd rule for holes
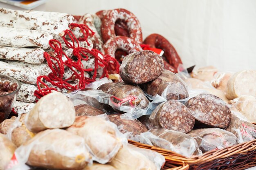
[[[105,55],[110,55],[112,57],[115,57],[115,52],[117,51],[117,49],[127,51],[128,54],[142,50],[139,44],[137,44],[132,39],[124,36],[116,36],[110,38],[103,46],[103,51]]]

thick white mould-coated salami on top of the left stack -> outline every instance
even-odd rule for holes
[[[39,14],[38,14],[39,13]],[[61,40],[63,31],[69,29],[69,22],[61,22],[45,18],[42,12],[16,11],[11,9],[0,9],[0,26],[12,27],[17,29],[30,29],[47,31],[55,39]]]

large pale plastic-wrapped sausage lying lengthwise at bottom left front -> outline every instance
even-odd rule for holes
[[[27,163],[30,166],[74,170],[92,163],[85,140],[66,130],[44,130],[15,151],[17,164],[11,169],[19,169]]]

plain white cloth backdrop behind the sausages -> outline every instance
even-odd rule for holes
[[[166,37],[186,67],[256,69],[256,0],[49,0],[45,8],[75,15],[125,8],[144,38]]]

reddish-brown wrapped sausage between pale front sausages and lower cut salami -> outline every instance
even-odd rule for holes
[[[148,128],[141,124],[137,119],[135,120],[126,120],[121,119],[121,114],[108,115],[108,118],[111,122],[117,125],[121,133],[129,132],[132,135],[140,135],[143,132],[148,131]]]

